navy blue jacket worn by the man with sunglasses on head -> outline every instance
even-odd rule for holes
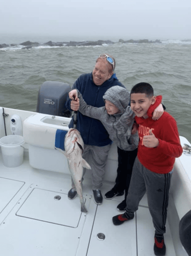
[[[100,108],[101,106],[105,105],[103,100],[105,92],[113,86],[121,86],[125,88],[125,86],[118,81],[115,74],[113,74],[101,86],[97,86],[93,82],[91,72],[89,74],[81,75],[74,83],[72,90],[78,89],[88,105]],[[70,102],[71,100],[67,96],[66,108],[72,111],[70,109]],[[73,127],[73,118],[69,123],[69,128]],[[77,130],[81,133],[84,144],[86,145],[106,146],[111,143],[109,134],[101,121],[84,116],[80,112],[78,112],[77,116]]]

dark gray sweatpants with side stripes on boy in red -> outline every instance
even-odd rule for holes
[[[126,215],[129,218],[134,217],[134,212],[138,209],[138,204],[147,191],[149,211],[153,219],[155,233],[165,233],[171,177],[172,172],[168,174],[151,172],[136,157],[126,200]]]

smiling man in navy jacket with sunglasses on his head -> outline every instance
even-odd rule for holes
[[[113,73],[114,69],[115,59],[110,55],[101,54],[96,60],[93,71],[89,74],[81,75],[74,83],[72,89],[78,89],[88,105],[98,108],[104,106],[103,95],[109,88],[113,86],[125,88]],[[66,107],[70,111],[78,110],[79,99],[75,101],[70,100],[68,97]],[[102,204],[103,197],[100,189],[105,174],[107,156],[112,142],[100,120],[84,116],[80,112],[78,112],[77,120],[77,130],[81,133],[84,141],[83,158],[91,166],[94,202],[96,204]],[[73,121],[74,118],[71,119],[69,127],[73,127]],[[74,199],[76,196],[77,192],[72,181],[72,188],[68,192],[68,198]]]

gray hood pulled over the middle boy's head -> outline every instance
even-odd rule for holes
[[[120,110],[120,113],[124,113],[129,105],[130,95],[127,89],[113,86],[105,92],[103,99],[104,101],[109,100]]]

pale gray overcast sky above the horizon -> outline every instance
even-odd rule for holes
[[[0,35],[62,41],[190,39],[190,13],[191,0],[3,0]]]

